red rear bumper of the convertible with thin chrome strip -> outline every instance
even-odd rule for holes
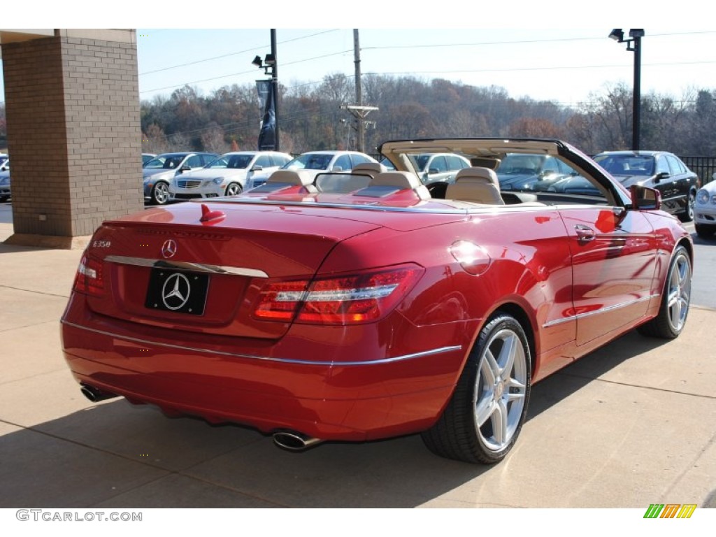
[[[62,320],[64,356],[78,382],[168,414],[265,433],[296,430],[321,440],[374,440],[427,429],[449,400],[465,355],[460,344],[392,357],[376,347],[366,349],[366,362],[321,361],[335,349],[326,344],[325,353],[316,352],[314,341],[304,353],[309,346],[291,335],[280,346],[264,342],[248,349],[236,338],[222,349],[204,348],[177,341],[183,334],[150,341],[122,326],[110,328],[111,319],[77,318],[79,311],[71,301]],[[276,356],[276,347],[294,352]]]

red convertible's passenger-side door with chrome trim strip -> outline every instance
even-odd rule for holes
[[[572,256],[577,345],[583,345],[646,314],[656,236],[639,211],[564,206],[561,216]]]

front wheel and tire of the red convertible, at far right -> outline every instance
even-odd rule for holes
[[[639,334],[662,339],[674,339],[681,334],[689,314],[691,276],[689,253],[684,246],[677,246],[669,263],[659,313],[637,328]]]

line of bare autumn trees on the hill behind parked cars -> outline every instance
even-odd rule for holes
[[[281,150],[356,147],[356,120],[340,107],[354,100],[352,77],[329,75],[319,85],[280,92]],[[709,89],[690,89],[680,97],[642,95],[641,147],[715,156],[714,97]],[[409,137],[556,137],[586,153],[627,149],[632,140],[632,90],[623,83],[565,107],[515,99],[495,86],[372,75],[364,77],[363,100],[379,107],[367,117],[367,153],[385,140]],[[149,153],[255,149],[263,115],[256,88],[236,84],[208,96],[185,86],[142,102],[141,110],[142,150]]]

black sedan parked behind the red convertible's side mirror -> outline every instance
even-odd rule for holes
[[[662,208],[682,222],[694,219],[700,180],[681,159],[666,151],[605,151],[594,160],[629,188],[643,185],[662,193]]]

